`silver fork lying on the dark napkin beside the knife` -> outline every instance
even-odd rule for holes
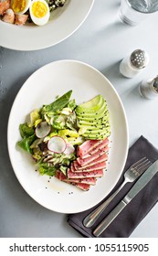
[[[124,181],[121,184],[121,187],[119,187],[112,195],[109,197],[106,201],[104,201],[100,207],[94,209],[90,214],[83,219],[83,225],[86,228],[90,228],[97,219],[99,219],[100,214],[103,212],[105,208],[110,204],[113,197],[115,197],[119,191],[121,191],[121,188],[125,186],[128,182],[133,182],[138,176],[141,176],[142,173],[150,166],[152,165],[152,162],[149,161],[146,157],[143,157],[136,163],[134,163],[125,173],[124,173]]]

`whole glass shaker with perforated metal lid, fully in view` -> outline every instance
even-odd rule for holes
[[[148,53],[142,49],[136,49],[130,56],[121,60],[120,72],[126,78],[133,78],[148,65],[148,62]]]

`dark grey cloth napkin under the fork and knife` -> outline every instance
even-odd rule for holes
[[[120,187],[123,181],[124,172],[136,161],[138,161],[143,156],[146,156],[151,162],[158,159],[158,150],[151,144],[147,139],[141,136],[132,147],[129,149],[129,154],[127,157],[127,162],[124,167],[123,173],[118,184],[113,188],[111,194]],[[131,189],[133,183],[128,183],[121,190],[119,195],[117,195],[110,203],[108,208],[104,210],[101,214],[100,219],[91,227],[85,228],[82,224],[83,219],[97,206],[90,208],[84,212],[79,212],[76,214],[68,215],[68,223],[74,229],[78,230],[83,237],[94,237],[92,231],[99,225],[100,221],[104,219],[113,208],[121,201],[121,199],[126,195],[126,193]],[[106,199],[107,197],[105,197]],[[102,238],[127,238],[132,234],[132,231],[139,225],[142,219],[148,214],[148,212],[153,208],[158,200],[158,174],[153,176],[153,179],[147,184],[142,191],[132,199],[132,201],[124,208],[119,216],[113,220],[111,225],[104,230],[100,235]],[[103,200],[102,200],[103,201]],[[81,203],[81,202],[80,202]],[[100,202],[101,203],[101,202]],[[100,204],[98,204],[99,206]]]

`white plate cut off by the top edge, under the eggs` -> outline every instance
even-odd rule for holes
[[[84,22],[94,0],[67,0],[45,26],[16,26],[0,20],[0,46],[16,50],[48,48],[69,37]]]

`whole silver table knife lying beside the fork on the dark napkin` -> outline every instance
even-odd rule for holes
[[[100,222],[100,225],[94,229],[93,235],[99,237],[100,234],[108,228],[111,222],[121,213],[121,210],[145,187],[153,176],[158,172],[158,160],[151,165],[137,180],[128,194],[121,200],[121,202],[114,208],[111,213]]]

